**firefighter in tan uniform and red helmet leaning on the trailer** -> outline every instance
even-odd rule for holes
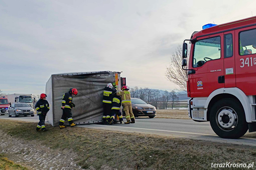
[[[123,109],[125,111],[125,118],[127,120],[127,122],[125,122],[125,124],[130,124],[131,123],[135,123],[135,117],[132,113],[132,107],[131,107],[131,94],[128,91],[129,89],[127,88],[127,86],[123,86],[122,91],[118,92],[117,95],[121,96],[122,99],[122,105],[123,105]]]

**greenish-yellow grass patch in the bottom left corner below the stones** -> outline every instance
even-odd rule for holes
[[[8,160],[4,154],[0,153],[0,170],[28,170],[27,168]]]

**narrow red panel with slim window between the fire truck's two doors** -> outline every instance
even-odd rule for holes
[[[236,87],[236,68],[235,68],[235,31],[224,33],[224,74],[225,88]]]

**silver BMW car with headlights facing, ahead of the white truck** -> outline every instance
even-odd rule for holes
[[[31,117],[34,115],[34,109],[30,107],[27,103],[12,103],[12,105],[8,109],[8,116],[9,117],[18,117],[18,116],[28,116]]]

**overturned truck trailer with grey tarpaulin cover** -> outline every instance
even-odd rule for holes
[[[96,124],[102,122],[103,90],[108,83],[115,82],[118,91],[121,89],[120,72],[75,72],[51,75],[46,83],[47,101],[50,111],[47,120],[58,126],[62,116],[61,101],[64,93],[70,88],[77,88],[78,94],[73,96],[72,117],[77,124]],[[67,123],[67,120],[65,121]]]

